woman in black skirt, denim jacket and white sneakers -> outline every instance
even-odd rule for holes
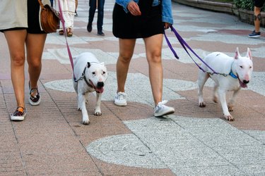
[[[129,63],[134,54],[136,39],[143,38],[149,68],[149,80],[155,101],[155,117],[175,112],[167,101],[162,101],[163,66],[161,52],[164,30],[173,24],[171,0],[116,0],[113,10],[112,31],[119,38],[119,57],[117,60],[117,94],[114,104],[126,106],[124,85]]]

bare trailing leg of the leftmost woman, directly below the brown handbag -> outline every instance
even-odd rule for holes
[[[42,52],[47,34],[28,34],[26,39],[28,73],[30,87],[37,88],[37,81],[42,70]]]

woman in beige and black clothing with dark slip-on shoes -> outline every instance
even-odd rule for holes
[[[42,0],[49,4],[49,0]],[[1,1],[0,31],[4,32],[11,60],[11,81],[16,96],[16,111],[11,120],[24,120],[25,108],[25,60],[28,61],[29,102],[40,104],[37,81],[42,70],[42,52],[47,34],[40,25],[40,4],[32,0]]]

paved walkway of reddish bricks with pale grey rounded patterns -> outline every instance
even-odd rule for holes
[[[163,99],[176,112],[153,117],[144,44],[137,40],[126,93],[128,106],[114,106],[118,40],[112,34],[114,0],[105,1],[103,30],[98,37],[97,14],[88,33],[88,0],[78,1],[73,56],[90,51],[105,62],[109,77],[102,96],[102,116],[93,115],[95,94],[87,105],[90,125],[82,125],[65,38],[49,34],[43,53],[40,106],[26,103],[23,122],[11,122],[16,109],[10,61],[4,34],[0,34],[0,175],[265,175],[265,30],[249,39],[252,25],[235,16],[173,3],[175,27],[199,56],[223,51],[234,56],[252,51],[254,73],[248,89],[237,97],[234,122],[223,119],[220,104],[211,101],[213,82],[204,89],[206,108],[199,108],[198,68],[170,30],[173,57],[163,45]],[[27,70],[27,68],[25,68]],[[28,77],[25,82],[28,82]],[[28,87],[25,88],[28,102]]]

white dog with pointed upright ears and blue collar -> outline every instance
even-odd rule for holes
[[[204,62],[209,65],[210,68],[212,68],[216,73],[221,73],[224,75],[211,75],[209,73],[213,73],[213,71],[210,70],[204,63],[201,64],[201,68],[203,68],[206,72],[199,70],[199,106],[206,106],[206,103],[204,103],[202,90],[206,80],[208,80],[208,77],[211,77],[216,83],[213,89],[213,101],[217,103],[219,96],[225,119],[232,121],[234,118],[229,111],[233,111],[235,96],[241,87],[247,87],[247,83],[249,83],[251,79],[253,70],[252,54],[249,48],[247,48],[246,56],[242,57],[240,56],[237,48],[234,58],[220,52],[213,52],[204,58]],[[226,103],[225,99],[227,91],[233,91],[232,98],[228,104]]]

